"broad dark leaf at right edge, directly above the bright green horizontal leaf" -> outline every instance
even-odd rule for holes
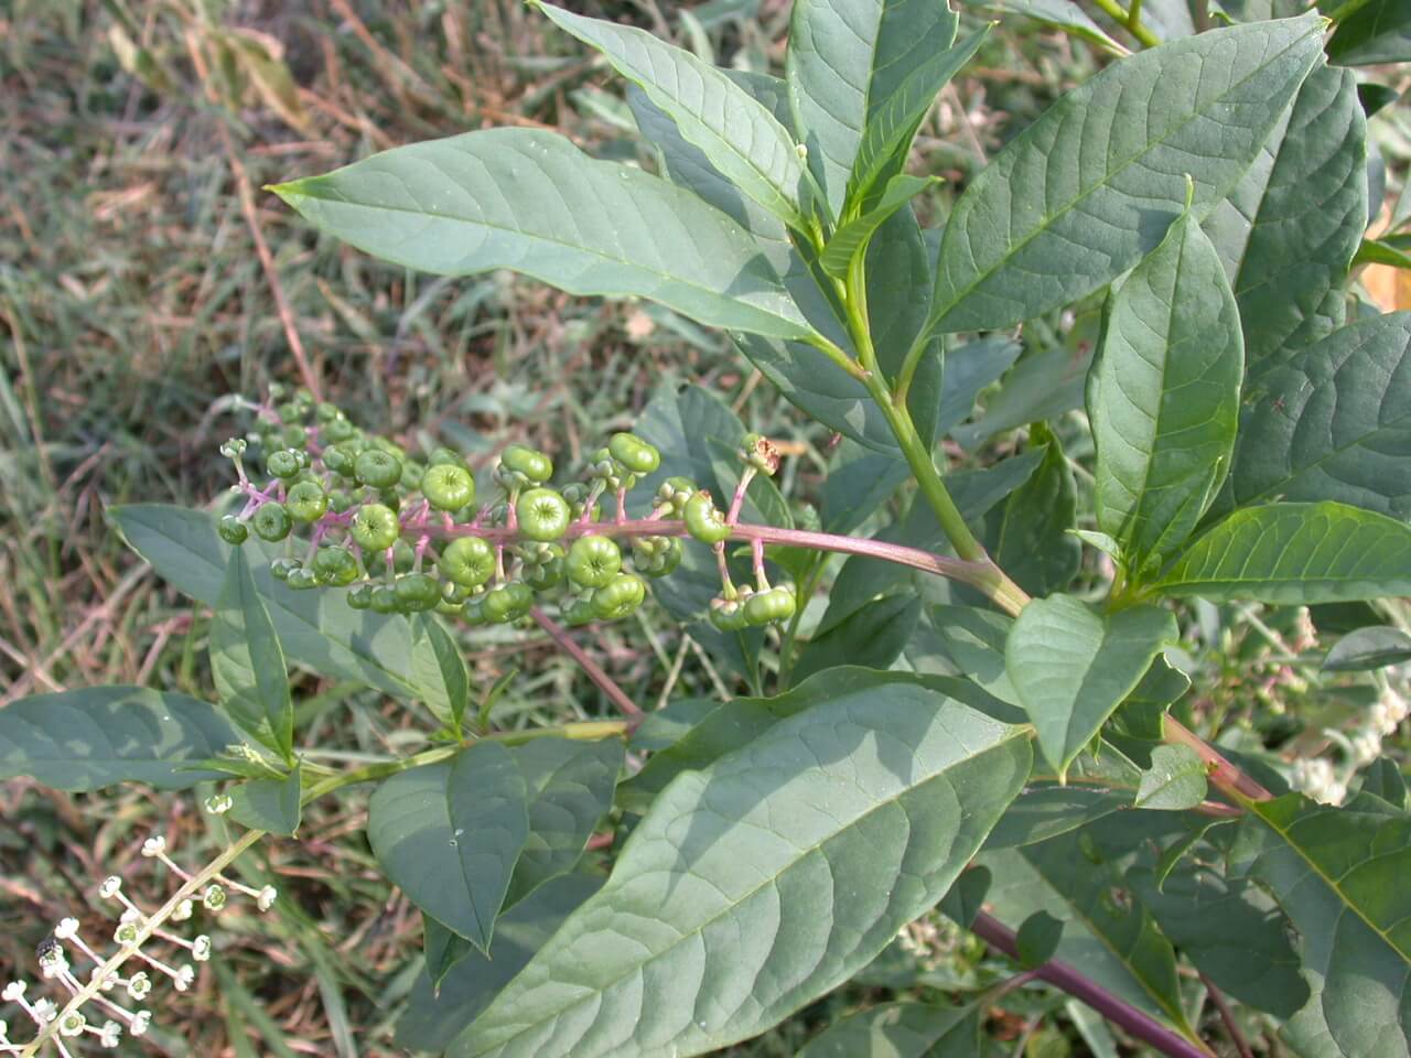
[[[1219,506],[1270,499],[1411,518],[1411,312],[1359,320],[1260,377]]]

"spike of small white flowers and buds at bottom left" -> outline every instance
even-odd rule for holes
[[[152,1013],[141,1004],[152,995],[154,976],[157,980],[166,978],[176,992],[185,992],[195,983],[192,963],[210,959],[210,937],[182,937],[165,927],[190,918],[198,901],[206,911],[217,913],[229,901],[229,893],[236,892],[254,900],[261,911],[268,911],[278,896],[274,886],[251,889],[224,877],[214,863],[196,875],[188,873],[166,855],[166,839],[159,835],[143,842],[143,856],[161,861],[179,882],[172,900],[155,911],[144,911],[123,892],[123,879],[110,875],[96,892],[100,900],[114,901],[121,908],[113,930],[117,949],[103,954],[99,951],[103,941],[89,944],[80,934],[79,920],[63,918],[35,949],[40,978],[49,983],[61,1003],[45,996],[31,999],[30,982],[25,980],[11,980],[0,990],[0,1000],[18,1006],[34,1023],[40,1042],[52,1044],[61,1058],[82,1054],[82,1041],[110,1050],[124,1034],[140,1037],[147,1033]],[[83,978],[71,959],[87,963]],[[123,976],[123,966],[133,962],[143,963],[143,969],[127,969]],[[99,1016],[100,1020],[90,1020]],[[0,1020],[0,1055],[32,1054],[35,1042],[35,1038],[24,1042],[11,1040],[10,1026]]]

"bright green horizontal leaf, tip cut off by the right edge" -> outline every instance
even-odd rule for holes
[[[1161,576],[1163,595],[1285,605],[1411,594],[1411,526],[1345,504],[1236,511]]]

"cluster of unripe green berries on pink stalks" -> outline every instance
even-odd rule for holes
[[[676,570],[682,540],[691,536],[718,556],[722,592],[711,605],[718,628],[763,625],[794,612],[793,591],[769,585],[758,540],[753,588],[735,587],[725,566],[745,487],[779,466],[775,447],[758,434],[745,439],[745,468],[728,513],[710,492],[673,477],[646,518],[629,519],[628,492],[662,463],[635,434],[614,434],[588,460],[586,480],[562,488],[550,484],[549,456],[512,444],[494,468],[495,495],[477,502],[476,477],[459,453],[436,449],[415,458],[306,391],[282,396],[277,391],[260,406],[248,439],[222,446],[246,504],[222,519],[220,536],[230,545],[250,533],[286,542],[286,554],[270,568],[291,588],[347,588],[357,609],[436,611],[471,625],[518,621],[552,595],[567,624],[584,625],[632,614],[646,598],[643,578]],[[251,442],[268,478],[262,485],[247,470]],[[615,501],[608,521],[605,498]],[[302,556],[296,533],[308,536]]]

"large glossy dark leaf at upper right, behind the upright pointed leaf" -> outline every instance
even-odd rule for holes
[[[1356,78],[1319,66],[1206,219],[1252,374],[1342,324],[1342,288],[1367,223],[1366,159]]]

